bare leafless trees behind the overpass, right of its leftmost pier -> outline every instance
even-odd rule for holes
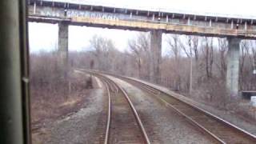
[[[158,84],[179,93],[214,101],[225,96],[226,38],[206,38],[168,34],[168,54],[161,62]],[[150,34],[140,33],[127,42],[120,52],[114,42],[95,35],[90,40],[92,50],[70,52],[70,64],[150,80]],[[240,46],[240,90],[256,90],[256,41],[242,40]],[[192,70],[192,72],[191,72]],[[192,78],[190,78],[192,74]],[[190,79],[192,90],[190,93]]]

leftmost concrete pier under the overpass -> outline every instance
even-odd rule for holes
[[[69,25],[66,22],[58,24],[58,64],[65,74],[68,70],[68,38]]]

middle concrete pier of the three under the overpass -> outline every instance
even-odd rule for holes
[[[158,82],[162,61],[162,30],[150,32],[150,81]]]

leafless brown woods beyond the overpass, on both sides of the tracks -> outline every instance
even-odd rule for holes
[[[166,42],[168,54],[162,57],[160,75],[154,76],[158,85],[207,105],[240,110],[238,106],[228,105],[230,98],[225,91],[226,38],[168,34]],[[68,77],[63,76],[62,67],[58,64],[58,51],[30,54],[32,104],[43,107],[50,102],[54,105],[63,103],[69,98],[67,95],[79,95],[82,89],[90,87],[88,78],[74,77],[72,70],[75,68],[101,70],[150,81],[150,34],[140,33],[136,38],[129,39],[127,45],[129,48],[121,52],[111,39],[94,35],[90,39],[90,51],[69,52]],[[256,90],[255,66],[256,41],[243,40],[240,46],[240,90]],[[254,113],[248,113],[249,109],[250,106],[242,107],[239,113],[254,116]]]

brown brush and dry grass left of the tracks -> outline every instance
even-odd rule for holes
[[[63,77],[55,52],[30,54],[30,95],[32,130],[78,110],[90,92],[91,78],[70,72]]]

